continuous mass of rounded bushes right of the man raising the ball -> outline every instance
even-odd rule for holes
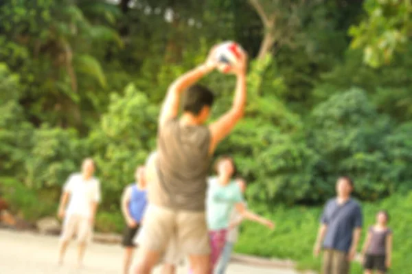
[[[364,200],[411,188],[405,138],[410,126],[397,126],[378,113],[362,89],[332,95],[305,118],[284,114],[287,126],[275,124],[276,112],[262,119],[264,107],[254,113],[257,117],[246,117],[217,154],[235,157],[259,201],[319,203],[343,174],[354,178],[356,196]]]

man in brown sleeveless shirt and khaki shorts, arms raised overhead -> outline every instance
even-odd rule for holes
[[[148,208],[135,273],[151,273],[175,237],[188,256],[195,274],[209,273],[209,238],[205,220],[205,195],[211,157],[216,147],[242,118],[246,104],[247,55],[236,52],[239,60],[231,71],[236,74],[233,106],[216,122],[205,125],[214,95],[195,83],[218,66],[216,50],[207,60],[183,74],[169,87],[159,117],[157,159],[148,185]],[[183,114],[179,103],[186,91]]]

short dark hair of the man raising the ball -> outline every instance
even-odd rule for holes
[[[211,106],[213,102],[214,94],[207,87],[195,84],[186,91],[183,111],[198,115],[204,106]]]

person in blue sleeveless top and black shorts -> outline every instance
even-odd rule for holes
[[[139,231],[141,220],[146,209],[146,174],[144,166],[139,166],[135,172],[135,183],[128,185],[122,195],[122,213],[126,220],[122,245],[124,253],[124,274],[129,273],[135,243],[133,238]]]

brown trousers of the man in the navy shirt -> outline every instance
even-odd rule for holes
[[[335,249],[323,252],[323,274],[349,274],[350,262],[347,253]]]

